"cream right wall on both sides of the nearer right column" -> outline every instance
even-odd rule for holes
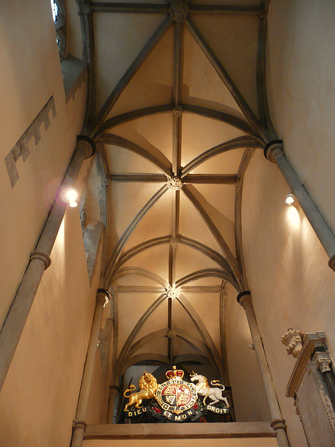
[[[332,1],[272,0],[267,88],[285,154],[332,230],[334,217],[334,18]],[[325,331],[335,349],[334,272],[289,188],[257,152],[246,171],[242,224],[255,316],[292,446],[306,446],[293,400],[285,397],[295,359],[281,336],[289,328]]]

